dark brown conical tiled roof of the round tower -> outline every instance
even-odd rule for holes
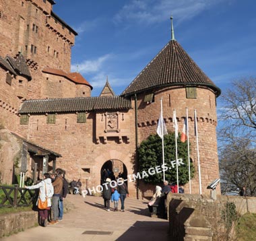
[[[121,95],[130,96],[170,85],[203,85],[214,90],[217,96],[220,95],[220,89],[176,40],[170,40]]]

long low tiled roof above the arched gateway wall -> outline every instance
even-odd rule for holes
[[[94,110],[129,110],[131,100],[121,96],[56,98],[26,100],[20,107],[20,114],[51,112],[82,112]]]

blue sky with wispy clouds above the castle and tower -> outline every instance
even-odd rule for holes
[[[98,96],[106,76],[119,95],[170,40],[176,40],[224,92],[230,81],[255,76],[253,0],[55,0],[53,11],[78,36],[71,71]],[[218,100],[220,101],[220,100]]]

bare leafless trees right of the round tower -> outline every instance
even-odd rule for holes
[[[232,82],[223,94],[218,131],[222,188],[256,195],[256,78]]]

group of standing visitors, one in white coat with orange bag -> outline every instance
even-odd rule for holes
[[[36,205],[46,202],[46,207],[39,209],[40,225],[59,223],[63,219],[63,201],[67,197],[68,182],[65,179],[65,170],[57,168],[55,174],[44,173],[44,178],[38,184],[25,186],[28,189],[39,188]],[[51,214],[53,217],[51,218]]]

